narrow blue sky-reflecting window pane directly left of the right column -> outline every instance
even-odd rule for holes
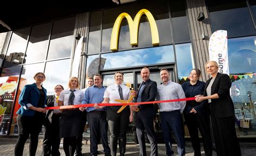
[[[192,47],[191,43],[176,44],[176,59],[177,59],[177,69],[179,77],[187,77],[190,75],[190,71],[193,69],[192,63]]]

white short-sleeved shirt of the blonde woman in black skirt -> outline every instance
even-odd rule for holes
[[[75,90],[76,91],[74,92],[75,94],[74,105],[80,105],[82,103],[82,100],[84,99],[84,92],[79,89],[75,89]],[[64,106],[69,105],[70,94],[71,94],[70,89],[66,89],[60,93],[59,101],[63,101]]]

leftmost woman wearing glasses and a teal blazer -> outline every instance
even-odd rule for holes
[[[42,130],[46,110],[46,90],[42,86],[45,75],[38,72],[33,77],[36,83],[25,85],[20,96],[17,111],[19,137],[15,146],[15,155],[23,155],[26,140],[30,135],[29,153],[36,155],[38,135]]]

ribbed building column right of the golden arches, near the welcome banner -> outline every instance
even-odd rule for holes
[[[186,0],[186,3],[196,67],[202,71],[202,80],[205,82],[209,77],[204,65],[209,60],[208,45],[212,35],[208,12],[204,0]],[[204,21],[197,20],[200,12],[204,13]]]

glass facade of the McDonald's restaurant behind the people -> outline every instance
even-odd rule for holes
[[[255,2],[205,2],[212,32],[227,30],[228,33],[231,96],[237,117],[237,135],[255,137]],[[166,67],[171,71],[172,80],[182,84],[188,80],[191,69],[199,61],[194,60],[197,52],[193,51],[186,8],[184,1],[163,0],[133,2],[90,12],[86,67],[81,74],[92,77],[93,74],[101,73],[104,77],[103,85],[109,86],[114,83],[113,73],[124,71],[124,84],[136,90],[142,82],[139,75],[142,67],[150,67],[151,78],[158,85],[161,83],[159,70]],[[158,28],[159,45],[152,45],[150,24],[143,15],[138,27],[138,46],[131,45],[129,25],[123,19],[119,30],[118,51],[111,51],[111,33],[118,15],[127,12],[134,19],[141,9],[152,13]],[[53,93],[53,87],[57,84],[66,87],[69,78],[69,70],[66,69],[70,69],[72,61],[70,55],[74,46],[75,22],[76,17],[69,17],[12,32],[9,48],[4,53],[0,77],[0,107],[6,109],[0,116],[0,134],[7,133],[9,127],[10,134],[18,133],[17,99],[23,86],[34,82],[33,74],[39,71],[46,74],[44,87],[48,94]],[[10,87],[7,89],[4,86]],[[245,118],[250,120],[249,128],[240,126],[241,120]],[[160,125],[156,130],[160,131]],[[131,128],[131,132],[134,133],[134,128]]]

